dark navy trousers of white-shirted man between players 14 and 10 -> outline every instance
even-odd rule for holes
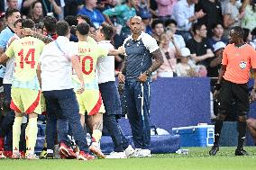
[[[73,89],[45,91],[43,94],[46,103],[49,105],[49,111],[47,112],[50,118],[58,118],[58,141],[69,145],[68,133],[70,127],[80,150],[88,152],[87,138],[80,123],[78,101]]]

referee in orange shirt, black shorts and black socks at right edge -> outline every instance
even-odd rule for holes
[[[233,58],[233,56],[236,58]],[[223,121],[227,116],[228,108],[233,100],[237,104],[237,130],[238,145],[235,149],[235,156],[244,156],[248,153],[243,149],[246,134],[246,115],[250,111],[249,103],[249,70],[256,68],[256,51],[243,41],[243,31],[239,26],[235,26],[230,31],[230,44],[223,52],[222,67],[215,85],[215,94],[219,102],[219,112],[215,121],[215,143],[209,151],[211,156],[215,156],[219,150],[219,139],[223,127]],[[251,101],[256,100],[256,83],[254,82],[251,92]]]

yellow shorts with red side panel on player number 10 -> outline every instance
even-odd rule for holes
[[[94,115],[97,112],[105,112],[99,90],[85,90],[83,94],[76,94],[79,104],[79,113],[85,115]]]

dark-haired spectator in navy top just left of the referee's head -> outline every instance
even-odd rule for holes
[[[209,47],[212,49],[212,51],[214,51],[214,45],[216,42],[218,41],[223,41],[225,44],[227,44],[227,40],[224,39],[224,27],[223,24],[220,22],[217,22],[215,24],[213,24],[212,27],[212,34],[213,36],[211,38],[207,39],[207,43],[209,45]]]

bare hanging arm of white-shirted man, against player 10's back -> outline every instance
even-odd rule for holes
[[[85,83],[84,83],[82,68],[78,60],[78,56],[72,56],[71,62],[72,62],[72,67],[75,69],[78,79],[80,81],[80,89],[78,90],[78,93],[82,94],[85,90]]]

